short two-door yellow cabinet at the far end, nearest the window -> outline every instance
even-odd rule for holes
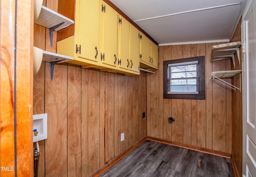
[[[158,46],[140,34],[140,67],[158,69]]]

